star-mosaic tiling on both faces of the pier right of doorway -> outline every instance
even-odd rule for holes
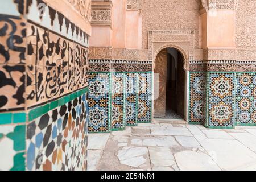
[[[189,123],[209,128],[235,126],[236,75],[232,72],[191,72]]]

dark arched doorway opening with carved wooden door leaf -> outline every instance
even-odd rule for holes
[[[184,55],[175,48],[164,48],[154,63],[154,118],[186,119],[186,72]]]

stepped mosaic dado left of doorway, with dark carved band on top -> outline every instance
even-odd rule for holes
[[[89,132],[123,130],[138,122],[151,122],[150,62],[89,62]]]

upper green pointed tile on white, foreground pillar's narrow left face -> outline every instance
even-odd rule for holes
[[[7,134],[6,137],[14,141],[15,151],[26,150],[26,125],[16,126],[14,132]]]

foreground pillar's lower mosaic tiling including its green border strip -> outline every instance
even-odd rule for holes
[[[0,170],[85,170],[87,101],[88,87],[28,114],[0,114]]]

